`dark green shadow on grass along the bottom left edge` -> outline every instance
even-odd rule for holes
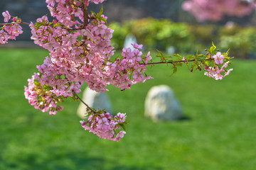
[[[47,151],[49,152],[49,151]],[[5,170],[162,170],[152,166],[123,166],[116,161],[102,159],[101,157],[89,157],[85,152],[55,153],[47,157],[40,154],[24,154],[13,159],[4,160],[0,157],[0,169]]]

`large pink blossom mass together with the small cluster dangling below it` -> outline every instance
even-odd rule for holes
[[[95,4],[102,1],[92,1]],[[55,114],[63,109],[58,103],[75,97],[85,82],[90,89],[106,91],[113,84],[120,89],[129,89],[132,84],[144,82],[146,64],[151,60],[150,52],[142,55],[142,45],[132,44],[124,48],[122,55],[113,57],[114,47],[110,39],[114,30],[105,25],[107,17],[87,14],[89,1],[47,0],[50,13],[30,23],[31,39],[47,49],[50,54],[43,64],[38,65],[38,73],[28,79],[25,96],[28,102],[41,111]],[[119,141],[126,132],[125,114],[92,112],[87,121],[81,121],[85,130],[109,140]]]

